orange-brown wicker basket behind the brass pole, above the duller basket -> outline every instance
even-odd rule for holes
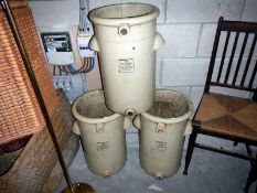
[[[32,64],[47,111],[53,114],[56,96],[29,7],[12,8],[18,30]],[[0,9],[0,144],[35,133],[44,119],[25,72],[21,54]]]

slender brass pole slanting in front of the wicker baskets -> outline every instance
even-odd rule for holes
[[[38,85],[35,75],[34,75],[32,66],[30,64],[29,56],[28,56],[26,51],[25,51],[25,49],[24,49],[24,46],[22,44],[22,40],[21,40],[20,33],[18,31],[15,21],[13,19],[13,14],[12,14],[12,11],[10,9],[10,4],[9,4],[9,2],[7,0],[0,0],[0,1],[1,1],[2,8],[4,10],[4,13],[7,15],[10,28],[12,30],[12,33],[14,35],[14,39],[15,39],[15,42],[18,44],[19,51],[21,53],[22,60],[24,62],[26,73],[29,74],[30,81],[31,81],[32,86],[34,88],[38,101],[40,104],[41,110],[43,112],[43,116],[44,116],[44,119],[45,119],[45,122],[46,122],[46,127],[49,129],[50,136],[52,138],[53,143],[54,143],[55,150],[57,152],[58,161],[60,161],[60,164],[62,167],[62,170],[63,170],[65,180],[67,182],[68,189],[69,189],[69,191],[72,193],[74,193],[74,191],[72,189],[72,181],[71,181],[69,174],[67,172],[67,168],[65,165],[65,162],[64,162],[64,159],[63,159],[63,156],[62,156],[62,151],[61,151],[61,148],[58,146],[58,141],[57,141],[56,136],[55,136],[54,130],[53,130],[53,125],[51,122],[51,119],[50,119],[50,116],[49,116],[44,99],[42,97],[42,94],[40,92],[40,87]]]

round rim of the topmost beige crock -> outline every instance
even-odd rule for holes
[[[99,9],[105,9],[108,7],[117,7],[117,6],[131,6],[131,4],[148,6],[148,7],[152,8],[152,11],[147,13],[147,14],[131,17],[131,18],[99,18],[96,14],[96,11],[98,11]],[[106,26],[118,26],[118,25],[124,24],[124,23],[127,23],[129,25],[136,25],[136,24],[147,23],[151,20],[157,19],[159,13],[160,13],[159,8],[157,8],[156,6],[149,4],[149,3],[140,3],[140,2],[116,3],[116,4],[108,4],[108,6],[93,9],[89,12],[89,20],[94,24],[106,25]]]

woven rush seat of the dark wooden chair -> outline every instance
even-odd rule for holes
[[[221,94],[204,94],[194,120],[201,129],[257,141],[257,103]]]

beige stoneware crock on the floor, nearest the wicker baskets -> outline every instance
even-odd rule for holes
[[[130,119],[106,108],[103,90],[78,97],[72,112],[73,131],[81,135],[88,169],[103,176],[119,171],[127,159],[125,128]]]

